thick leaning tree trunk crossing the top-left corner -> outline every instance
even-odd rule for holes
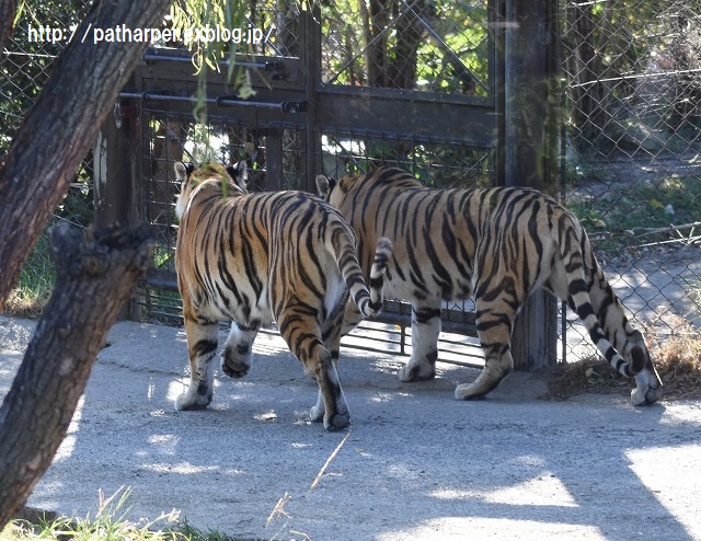
[[[0,163],[0,310],[147,46],[93,43],[92,32],[123,25],[158,27],[171,1],[95,1],[54,65],[48,83]],[[4,7],[12,0],[0,2]]]

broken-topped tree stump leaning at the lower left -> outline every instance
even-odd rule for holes
[[[0,407],[0,530],[50,465],[150,245],[146,226],[84,239],[66,223],[51,230],[54,296]]]

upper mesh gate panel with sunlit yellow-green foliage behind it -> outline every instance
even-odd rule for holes
[[[489,95],[486,0],[324,5],[322,80]]]

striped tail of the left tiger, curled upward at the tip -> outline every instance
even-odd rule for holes
[[[363,315],[366,318],[375,316],[382,310],[382,303],[384,301],[382,288],[384,286],[387,265],[392,256],[392,241],[384,237],[381,237],[377,241],[375,260],[372,261],[370,279],[367,286],[363,279],[363,273],[355,251],[350,249],[348,252],[347,246],[345,248],[346,249],[342,250],[340,254],[338,267],[346,280],[350,297],[353,297]]]

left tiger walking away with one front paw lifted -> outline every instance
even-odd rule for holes
[[[344,308],[353,298],[365,316],[381,310],[391,243],[377,240],[368,288],[353,229],[318,196],[248,193],[244,161],[196,170],[176,162],[174,171],[175,268],[191,369],[176,408],[202,410],[212,400],[219,322],[231,322],[221,370],[242,378],[258,330],[275,321],[319,384],[311,419],[344,428],[350,417],[336,368]]]

